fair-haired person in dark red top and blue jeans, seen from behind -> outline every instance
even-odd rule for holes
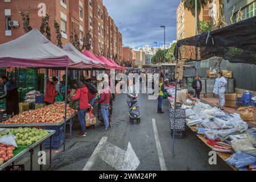
[[[104,119],[105,130],[108,130],[109,128],[109,101],[111,97],[112,96],[110,93],[109,86],[106,86],[106,88],[104,89],[104,85],[103,85],[101,90],[100,100],[98,100],[98,104],[101,105],[101,114]]]

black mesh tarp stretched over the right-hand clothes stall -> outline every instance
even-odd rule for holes
[[[200,61],[214,56],[223,57],[230,63],[256,64],[256,16],[178,40],[175,47],[178,59]]]

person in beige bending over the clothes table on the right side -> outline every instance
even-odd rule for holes
[[[195,95],[195,89],[183,89],[180,90],[177,93],[177,98],[176,98],[176,102],[177,102],[177,106],[181,106],[181,105],[187,105],[187,106],[192,106],[196,104],[196,100],[194,100],[192,97]],[[191,100],[192,102],[187,102],[187,100]],[[175,100],[172,102],[172,108],[174,109],[174,104],[175,104]]]

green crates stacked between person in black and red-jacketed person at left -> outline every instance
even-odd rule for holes
[[[32,90],[38,90],[38,70],[19,69],[18,71],[19,102],[24,102],[26,94]]]

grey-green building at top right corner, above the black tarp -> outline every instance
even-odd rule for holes
[[[243,13],[243,19],[251,18],[256,15],[256,1],[255,0],[225,0],[224,11],[225,21],[227,24],[237,22],[238,11],[241,9]]]

